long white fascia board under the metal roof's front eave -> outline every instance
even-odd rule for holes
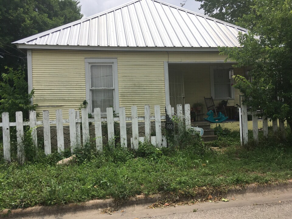
[[[16,44],[19,49],[54,50],[98,50],[98,51],[179,51],[179,52],[218,52],[217,47],[101,47],[101,46],[60,46]]]

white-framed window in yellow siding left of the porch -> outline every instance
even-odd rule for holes
[[[86,100],[89,112],[100,108],[101,114],[106,115],[106,108],[113,106],[118,111],[118,84],[116,59],[85,59],[86,71]]]

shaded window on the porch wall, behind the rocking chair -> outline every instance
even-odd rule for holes
[[[234,90],[231,86],[233,79],[229,67],[211,67],[211,96],[214,99],[233,98]]]

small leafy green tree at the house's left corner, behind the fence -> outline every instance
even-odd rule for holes
[[[15,113],[23,112],[23,118],[27,119],[29,110],[35,110],[36,104],[31,105],[31,98],[34,91],[28,93],[28,85],[25,80],[25,71],[22,67],[14,71],[7,68],[7,73],[2,73],[2,82],[0,82],[0,116],[3,112],[9,113],[9,120],[15,121]]]

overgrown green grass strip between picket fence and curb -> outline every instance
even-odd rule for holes
[[[275,143],[276,142],[276,143]],[[19,166],[0,164],[0,209],[82,202],[136,194],[166,193],[194,196],[214,189],[249,183],[270,183],[292,178],[290,142],[261,139],[260,146],[240,147],[238,132],[220,136],[208,146],[228,146],[222,151],[202,144],[183,149],[157,149],[140,145],[138,151],[92,145],[77,151],[76,163],[56,165],[57,153],[39,156]]]

